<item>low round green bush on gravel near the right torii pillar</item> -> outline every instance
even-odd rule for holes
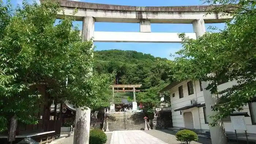
[[[191,141],[198,141],[198,136],[195,132],[184,129],[176,133],[176,138],[181,143],[190,144]]]

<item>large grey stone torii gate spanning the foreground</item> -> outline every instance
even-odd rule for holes
[[[41,0],[41,2],[44,0]],[[83,21],[82,41],[94,37],[94,42],[159,42],[159,43],[181,43],[177,33],[151,33],[150,23],[189,23],[193,24],[194,33],[185,33],[189,38],[198,38],[206,32],[204,23],[222,23],[230,16],[222,13],[211,13],[205,15],[211,7],[182,6],[182,7],[135,7],[125,5],[109,5],[85,3],[78,1],[58,0],[64,8],[65,15],[78,8],[75,15],[76,20]],[[58,19],[63,18],[62,12],[57,15]],[[140,23],[140,32],[103,32],[94,31],[95,22],[121,22]],[[207,86],[203,82],[203,87]],[[207,113],[211,111],[211,105],[217,102],[210,91],[203,90]],[[78,108],[76,113],[76,132],[74,144],[89,144],[90,130],[90,109],[82,111]],[[210,120],[211,122],[211,120]],[[223,126],[210,127],[212,144],[226,143],[219,139],[223,134]]]

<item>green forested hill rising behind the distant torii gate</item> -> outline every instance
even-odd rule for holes
[[[170,75],[158,65],[158,60],[166,61],[166,58],[131,50],[95,51],[94,60],[94,68],[100,73],[116,70],[116,84],[142,84],[142,89],[147,89],[165,83]]]

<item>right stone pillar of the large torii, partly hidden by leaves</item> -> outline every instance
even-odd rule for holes
[[[204,25],[203,19],[196,19],[193,21],[193,30],[196,33],[196,38],[202,36],[206,32],[206,28]],[[209,75],[213,75],[213,73],[210,73]],[[211,118],[209,118],[209,115],[217,114],[218,111],[212,111],[211,106],[215,105],[219,101],[219,97],[216,94],[211,94],[210,90],[206,90],[205,88],[210,84],[211,82],[202,82],[203,86],[203,94],[204,94],[204,101],[206,105],[206,113],[207,113],[207,120],[209,123],[212,122]],[[226,144],[227,143],[227,137],[225,134],[224,124],[222,121],[218,122],[217,126],[209,127],[210,133],[211,133],[211,142],[212,144]]]

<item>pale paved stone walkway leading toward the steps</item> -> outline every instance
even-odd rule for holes
[[[142,130],[120,130],[112,133],[110,144],[167,144]]]

